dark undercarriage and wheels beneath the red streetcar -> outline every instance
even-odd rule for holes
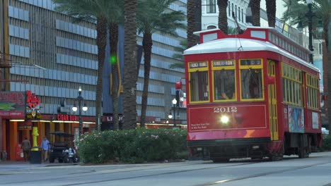
[[[307,158],[313,149],[319,146],[318,134],[290,133],[284,134],[284,142],[272,146],[269,138],[254,139],[225,139],[225,140],[196,140],[187,142],[192,159],[200,157],[214,162],[229,159],[251,158],[271,161],[283,159],[283,155],[298,155]]]

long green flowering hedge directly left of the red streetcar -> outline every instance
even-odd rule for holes
[[[186,159],[186,132],[170,129],[91,132],[81,136],[79,157],[83,163]]]

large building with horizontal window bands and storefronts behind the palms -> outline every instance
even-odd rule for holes
[[[176,1],[171,4],[170,10],[186,12],[185,4],[185,0]],[[63,131],[76,135],[78,116],[71,108],[77,104],[79,87],[82,88],[83,104],[88,106],[88,111],[82,112],[82,132],[95,130],[98,73],[95,23],[74,23],[70,16],[54,11],[56,5],[52,0],[1,0],[0,5],[0,52],[8,54],[11,66],[0,69],[3,80],[1,93],[6,98],[8,94],[23,95],[26,107],[23,116],[9,116],[15,109],[4,111],[7,115],[0,116],[0,150],[6,154],[6,159],[19,159],[18,147],[25,137],[32,140],[34,128],[38,132],[37,145],[40,145],[42,137],[50,137],[50,132]],[[175,54],[173,48],[179,46],[180,39],[186,38],[186,30],[179,29],[178,34],[180,37],[177,38],[153,34],[146,113],[151,124],[169,123],[168,113],[172,108],[171,100],[175,97],[175,82],[184,76],[183,69],[169,68],[172,63],[181,63],[172,57]],[[137,44],[141,42],[142,36],[139,35]],[[141,115],[144,58],[140,66],[138,118]],[[109,85],[105,86],[104,89],[109,89]],[[11,101],[8,98],[4,104],[11,104]],[[110,101],[103,102],[104,107],[110,104]],[[108,111],[111,113],[112,109]],[[185,109],[180,109],[178,123],[185,124],[185,118]]]

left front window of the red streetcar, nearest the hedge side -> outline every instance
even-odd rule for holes
[[[190,73],[190,101],[208,101],[208,72],[195,71]]]

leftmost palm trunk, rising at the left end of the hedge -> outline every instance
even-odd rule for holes
[[[95,123],[98,123],[98,117],[103,115],[102,101],[103,101],[103,63],[105,61],[105,46],[107,44],[107,20],[100,16],[96,25],[98,46],[98,80],[96,85],[95,95]],[[100,123],[98,123],[100,124]],[[99,126],[98,126],[99,127]]]

